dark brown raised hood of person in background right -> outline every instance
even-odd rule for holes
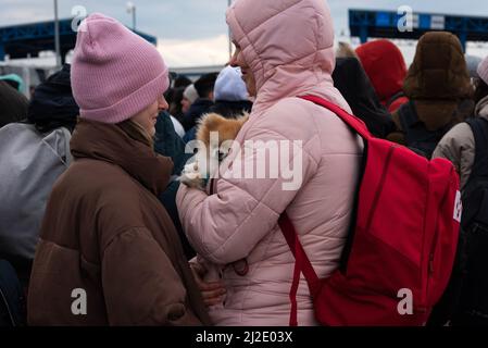
[[[458,37],[446,32],[425,34],[418,41],[403,90],[410,99],[470,98],[473,88]]]

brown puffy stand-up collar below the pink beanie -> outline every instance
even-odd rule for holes
[[[93,159],[118,165],[157,196],[170,183],[173,161],[158,156],[118,125],[80,120],[70,146],[75,160]]]

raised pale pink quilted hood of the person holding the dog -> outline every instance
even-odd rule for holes
[[[227,24],[255,77],[253,113],[326,89],[329,100],[343,105],[333,90],[334,26],[326,1],[238,0],[227,10]]]

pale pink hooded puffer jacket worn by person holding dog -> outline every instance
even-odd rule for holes
[[[211,309],[214,323],[288,325],[295,259],[277,220],[287,210],[317,275],[329,275],[349,227],[362,141],[335,114],[296,98],[315,95],[350,111],[330,77],[334,32],[324,0],[238,0],[227,23],[258,87],[250,120],[236,140],[302,141],[301,187],[285,189],[292,181],[281,170],[279,178],[232,178],[239,159],[243,167],[263,164],[258,151],[233,148],[221,166],[228,167],[225,178],[215,182],[216,195],[182,185],[179,215],[198,253],[222,265],[227,297]],[[240,259],[249,265],[243,275],[228,266]],[[315,325],[303,277],[297,300],[299,325]]]

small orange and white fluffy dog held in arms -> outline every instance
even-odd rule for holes
[[[211,161],[221,163],[228,156],[232,146],[229,140],[237,137],[248,120],[248,113],[236,119],[225,119],[216,113],[204,115],[197,129],[197,140],[201,141],[204,147],[199,147],[191,161],[185,165],[179,181],[188,187],[205,190],[205,178],[212,174],[210,173]],[[218,134],[218,142],[211,141],[212,132]]]

